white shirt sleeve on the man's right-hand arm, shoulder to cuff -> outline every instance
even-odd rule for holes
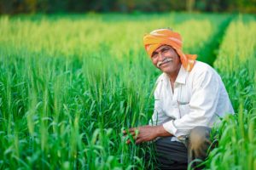
[[[219,97],[218,77],[211,71],[201,72],[192,82],[189,113],[163,124],[167,132],[181,137],[196,126],[208,126],[215,116]]]

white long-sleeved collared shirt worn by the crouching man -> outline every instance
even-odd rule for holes
[[[161,125],[167,132],[184,139],[196,126],[212,127],[218,116],[234,114],[229,95],[217,71],[210,65],[195,61],[192,71],[181,66],[172,94],[166,73],[160,75],[154,90],[154,114],[150,125]]]

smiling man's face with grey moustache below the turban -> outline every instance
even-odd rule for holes
[[[177,55],[175,49],[169,45],[162,45],[157,48],[152,56],[151,60],[160,71],[166,74],[177,73],[181,66],[181,61]]]

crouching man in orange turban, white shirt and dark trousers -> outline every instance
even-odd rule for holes
[[[191,161],[207,157],[211,127],[218,117],[234,113],[229,96],[210,65],[196,61],[196,55],[183,54],[177,32],[155,30],[143,42],[163,73],[154,90],[150,126],[133,127],[124,134],[131,133],[136,144],[154,140],[161,169],[186,169]]]

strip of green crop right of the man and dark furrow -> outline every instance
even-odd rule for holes
[[[212,150],[207,162],[210,169],[256,167],[255,28],[252,16],[237,17],[228,27],[214,63],[236,115],[225,117],[218,128],[218,148]]]

